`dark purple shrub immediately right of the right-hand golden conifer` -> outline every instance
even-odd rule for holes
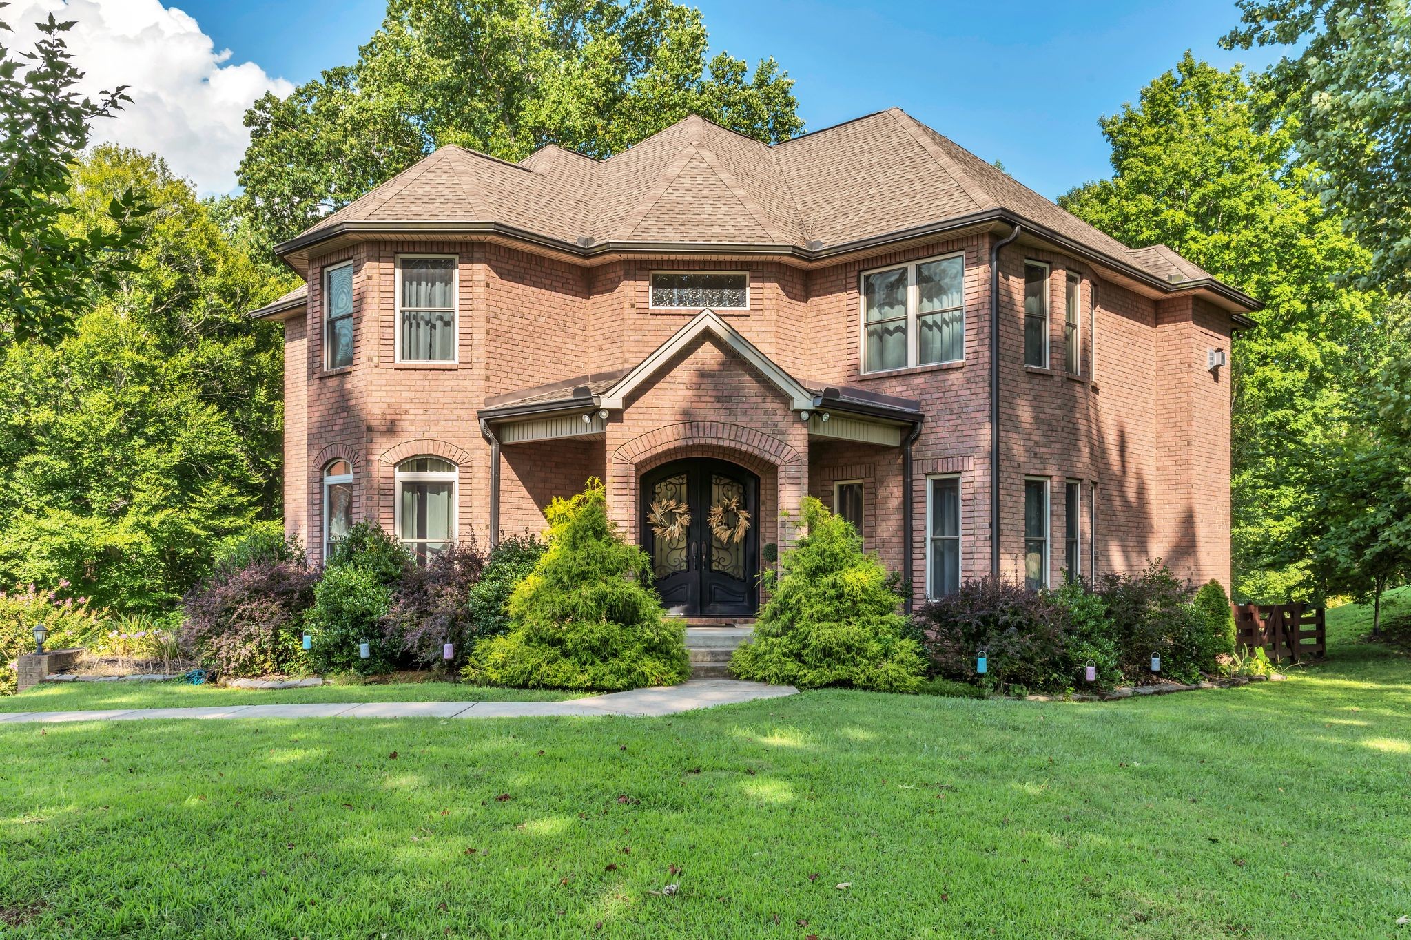
[[[1036,689],[1068,688],[1078,681],[1070,668],[1068,609],[1044,592],[981,578],[926,603],[916,617],[926,651],[944,678]],[[981,650],[988,667],[983,676],[975,671]]]

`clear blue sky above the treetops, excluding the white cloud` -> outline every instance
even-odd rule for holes
[[[1109,175],[1098,117],[1133,100],[1187,48],[1222,66],[1271,61],[1267,51],[1216,45],[1239,18],[1232,0],[698,6],[713,49],[749,62],[773,55],[789,70],[810,130],[899,106],[1050,197]],[[351,62],[385,7],[260,0],[183,8],[217,48],[302,82]]]

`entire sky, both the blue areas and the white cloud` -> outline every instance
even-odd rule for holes
[[[713,51],[775,56],[794,78],[810,130],[899,106],[1040,193],[1110,173],[1098,117],[1134,100],[1185,49],[1219,66],[1263,68],[1270,51],[1229,54],[1216,39],[1233,0],[921,3],[700,0]],[[202,193],[230,192],[248,132],[244,110],[351,63],[385,0],[13,0],[21,27],[48,10],[90,90],[134,97],[100,140],[151,149]],[[229,52],[229,55],[227,55]]]

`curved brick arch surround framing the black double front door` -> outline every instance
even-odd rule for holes
[[[809,466],[799,451],[758,428],[724,421],[682,421],[641,434],[612,451],[608,499],[612,519],[629,537],[638,531],[638,483],[642,474],[676,459],[708,457],[729,461],[759,476],[761,545],[792,541],[779,509],[797,516],[809,492]]]

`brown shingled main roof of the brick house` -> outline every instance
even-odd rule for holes
[[[604,161],[549,145],[508,163],[443,147],[296,241],[341,221],[447,221],[576,247],[825,249],[985,210],[1015,213],[1160,280],[1209,276],[1164,245],[1127,248],[900,109],[775,147],[696,116]]]

